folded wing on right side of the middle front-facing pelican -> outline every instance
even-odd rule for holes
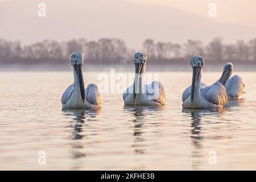
[[[147,85],[147,96],[149,100],[159,102],[161,105],[166,104],[166,93],[164,93],[164,87],[159,81],[153,81]]]

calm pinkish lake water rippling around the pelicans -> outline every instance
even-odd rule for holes
[[[85,85],[99,73],[84,72]],[[246,94],[221,110],[182,109],[192,73],[162,72],[164,107],[124,107],[122,94],[104,93],[101,110],[64,111],[72,71],[1,71],[0,169],[255,170],[256,72],[237,73]],[[220,76],[204,72],[202,81]]]

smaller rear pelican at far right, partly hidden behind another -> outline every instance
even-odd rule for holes
[[[230,78],[233,69],[234,66],[232,63],[225,64],[221,78],[217,82],[220,82],[225,86],[229,98],[238,98],[245,93],[245,84],[243,84],[242,78],[238,75],[234,75]]]

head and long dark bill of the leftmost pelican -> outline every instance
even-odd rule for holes
[[[84,64],[84,54],[75,52],[69,55],[70,64],[74,69],[75,82],[79,83],[82,103],[85,100],[84,79],[82,78],[82,65]]]

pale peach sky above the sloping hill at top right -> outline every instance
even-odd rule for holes
[[[197,15],[208,16],[209,3],[216,3],[217,17],[214,20],[243,26],[256,27],[255,0],[127,0],[134,3],[153,3],[182,9]]]

